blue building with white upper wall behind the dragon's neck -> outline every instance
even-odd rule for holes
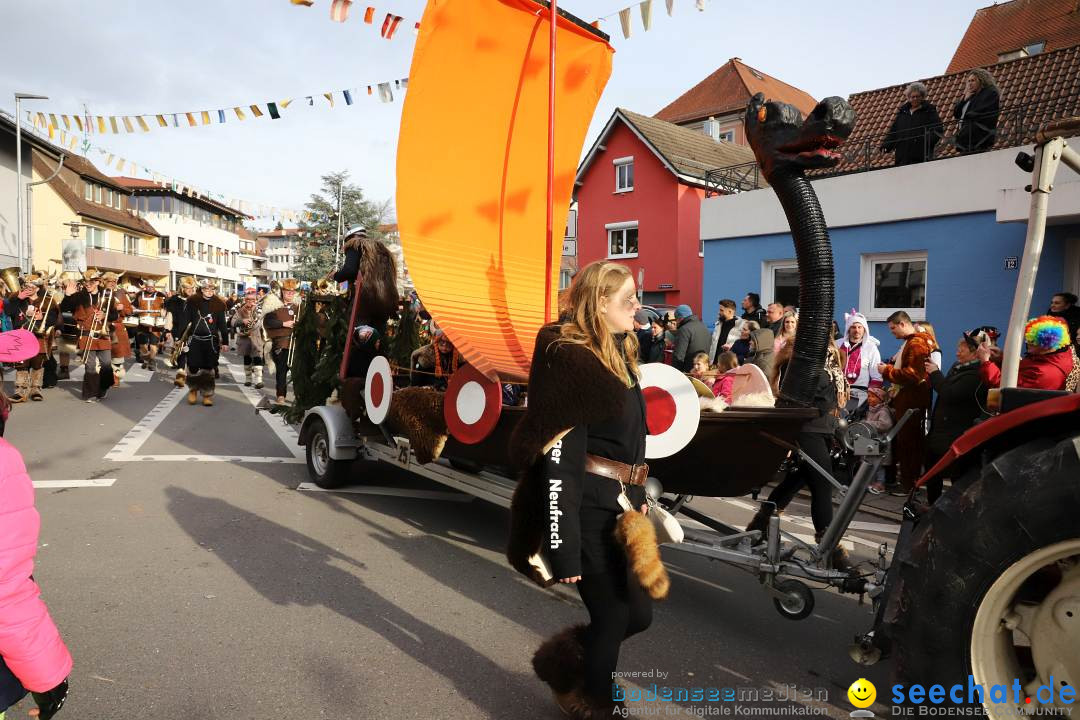
[[[1074,141],[1074,145],[1080,145]],[[1016,149],[814,181],[833,240],[836,320],[858,308],[888,357],[899,347],[885,320],[894,310],[933,324],[944,353],[980,325],[1005,331],[1027,231],[1030,175]],[[798,275],[775,194],[757,190],[702,204],[702,315],[747,293],[762,304],[797,304]],[[1080,293],[1080,178],[1064,165],[1050,200],[1047,242],[1031,298],[1044,312],[1054,293]],[[1003,338],[1002,338],[1003,341]]]

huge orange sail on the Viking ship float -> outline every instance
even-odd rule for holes
[[[546,237],[550,16],[532,0],[429,0],[402,114],[397,227],[409,274],[438,326],[491,379],[528,375],[555,308],[575,171],[611,74],[607,41],[559,16]]]

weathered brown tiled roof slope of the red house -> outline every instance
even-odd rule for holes
[[[616,110],[642,135],[669,165],[681,175],[703,178],[716,167],[754,162],[747,147],[714,140],[700,131],[687,130],[663,120],[649,118],[623,108]]]

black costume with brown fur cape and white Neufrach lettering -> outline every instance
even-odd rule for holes
[[[646,592],[644,578],[630,569],[637,562],[627,561],[634,548],[616,539],[617,525],[640,514],[623,514],[619,481],[586,473],[586,454],[640,465],[645,399],[637,383],[627,388],[589,349],[556,343],[557,337],[557,325],[541,328],[537,337],[529,406],[511,440],[512,457],[525,459],[529,468],[514,492],[507,554],[534,579],[528,557],[536,552],[549,558],[556,579],[581,575],[578,593],[590,624],[549,639],[534,667],[556,693],[577,693],[606,708],[620,644],[649,626],[650,594],[662,595]],[[636,511],[645,502],[644,488],[625,490]]]

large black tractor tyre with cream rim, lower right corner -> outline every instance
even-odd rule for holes
[[[1071,437],[1009,450],[920,520],[897,553],[900,679],[967,688],[971,675],[985,689],[1020,679],[1018,704],[986,697],[991,718],[1034,707],[1051,676],[1080,683],[1078,452]]]

